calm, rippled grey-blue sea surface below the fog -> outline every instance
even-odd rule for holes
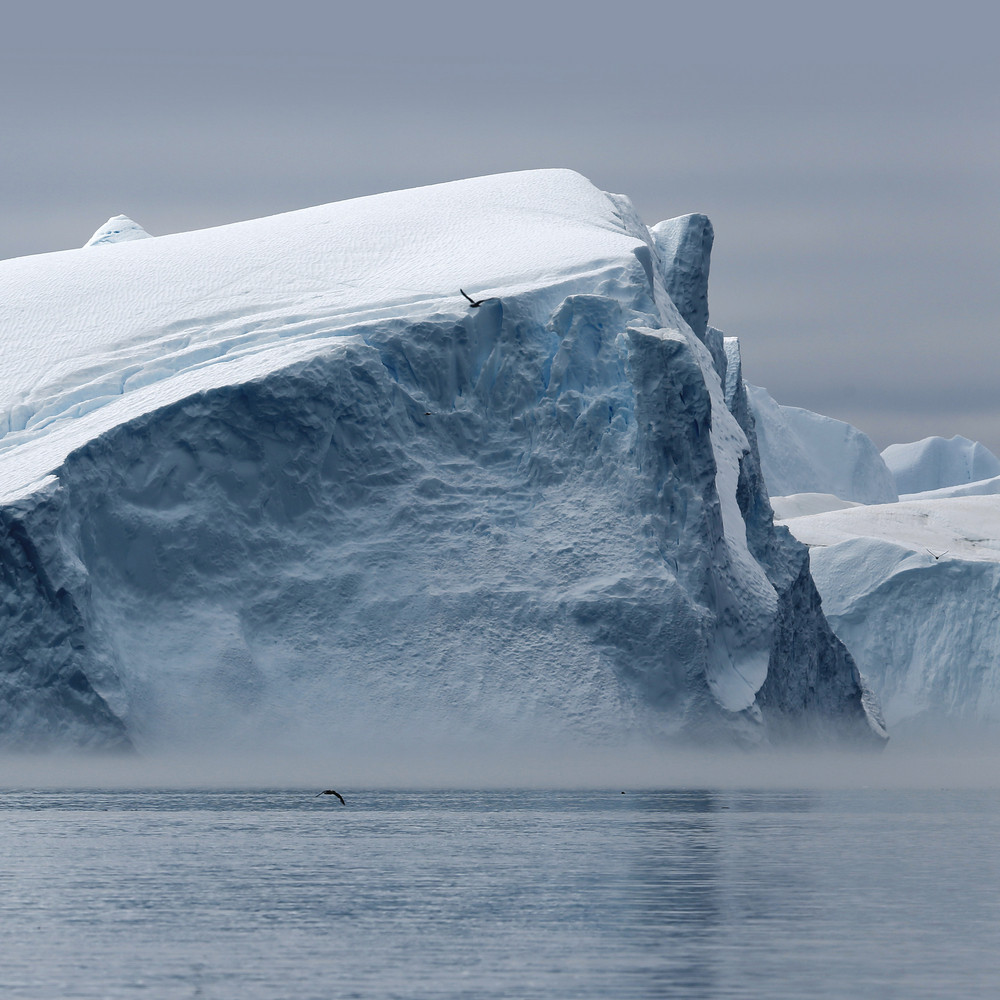
[[[1000,793],[0,793],[0,995],[986,998]]]

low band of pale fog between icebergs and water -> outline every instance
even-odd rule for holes
[[[882,751],[536,745],[351,746],[322,753],[8,754],[8,788],[997,789],[1000,741],[925,740]]]

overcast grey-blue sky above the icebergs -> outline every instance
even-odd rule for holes
[[[697,9],[692,9],[696,7]],[[716,231],[779,402],[1000,454],[985,4],[37,2],[0,37],[0,257],[572,167]]]

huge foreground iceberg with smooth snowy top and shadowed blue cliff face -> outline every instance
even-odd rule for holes
[[[0,742],[878,742],[711,239],[545,170],[0,263]]]

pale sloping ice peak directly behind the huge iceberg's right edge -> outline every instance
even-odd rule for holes
[[[760,460],[772,497],[829,493],[858,503],[897,499],[893,478],[867,434],[851,424],[796,406],[747,385]]]

